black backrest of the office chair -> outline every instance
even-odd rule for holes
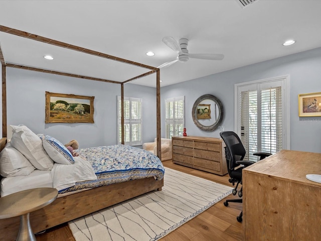
[[[246,151],[239,136],[235,132],[221,132],[220,136],[226,145],[225,158],[230,173],[231,170],[239,166],[236,161],[243,160]]]

